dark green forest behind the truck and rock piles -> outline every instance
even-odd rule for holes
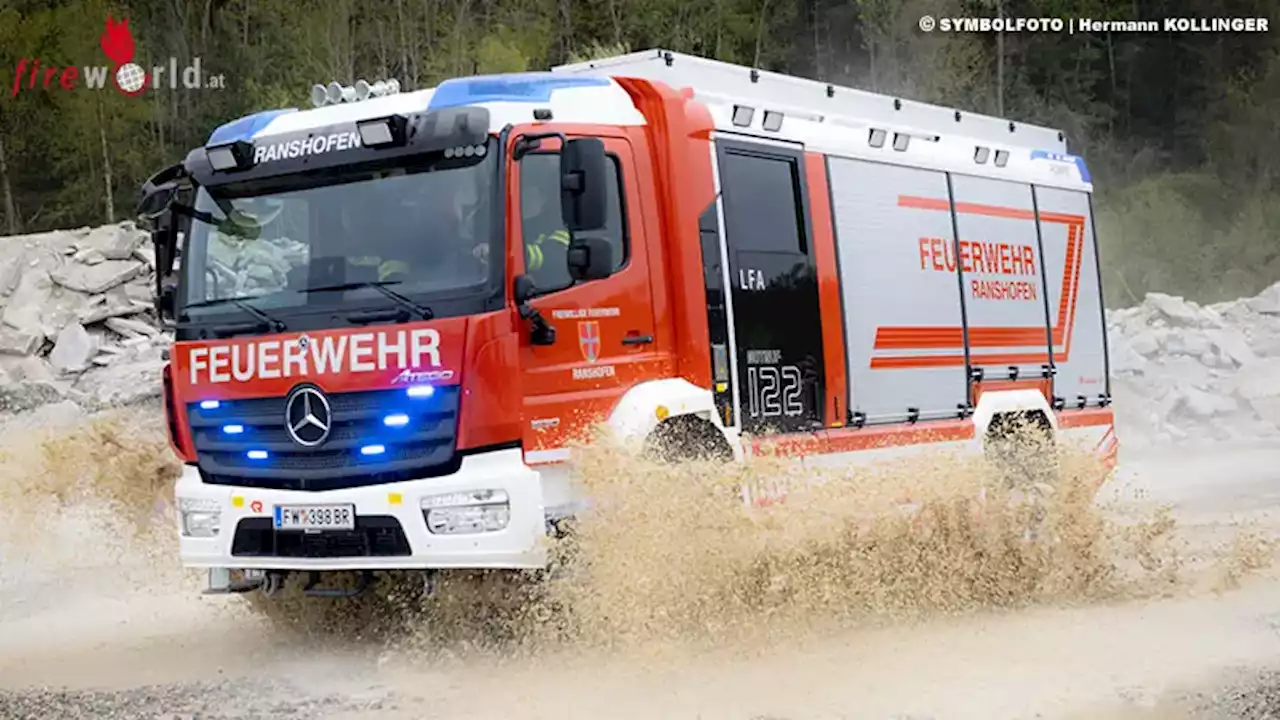
[[[1215,300],[1280,279],[1280,36],[997,38],[925,33],[918,20],[1220,10],[1211,0],[1165,0],[1158,15],[1133,0],[6,0],[0,228],[128,217],[151,172],[224,122],[307,106],[316,82],[396,77],[413,90],[664,47],[1062,128],[1097,182],[1108,302],[1148,291]],[[145,67],[200,58],[227,90],[9,96],[22,59],[106,64],[109,12],[129,19]],[[1271,0],[1234,0],[1230,14],[1280,26]]]

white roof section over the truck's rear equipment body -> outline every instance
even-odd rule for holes
[[[722,133],[800,142],[849,158],[1091,190],[1082,158],[1061,131],[955,108],[841,87],[667,50],[552,68],[553,73],[635,77],[691,88]],[[735,122],[736,108],[750,108]],[[765,117],[776,120],[765,126]],[[883,131],[882,145],[869,141]],[[895,149],[896,141],[905,147]],[[979,163],[978,158],[983,161]],[[1001,164],[996,164],[997,159]]]

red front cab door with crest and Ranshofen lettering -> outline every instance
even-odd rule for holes
[[[524,446],[530,462],[562,459],[567,442],[603,420],[628,387],[648,379],[655,357],[646,228],[643,213],[628,211],[640,208],[632,150],[623,138],[603,140],[613,169],[605,188],[608,225],[593,234],[612,242],[616,272],[600,281],[570,278],[563,236],[550,229],[563,227],[559,142],[544,140],[541,149],[511,165],[511,266],[513,274],[534,278],[539,292],[530,305],[556,328],[553,343],[534,345],[529,323],[520,322]],[[535,217],[535,200],[554,215],[550,225]]]

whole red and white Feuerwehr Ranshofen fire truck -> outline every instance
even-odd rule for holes
[[[540,568],[599,423],[863,462],[1023,418],[1115,462],[1059,131],[660,50],[312,100],[142,190],[212,591]]]

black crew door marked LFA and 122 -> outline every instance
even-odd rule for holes
[[[717,164],[741,429],[810,432],[826,370],[803,155],[718,140]]]

